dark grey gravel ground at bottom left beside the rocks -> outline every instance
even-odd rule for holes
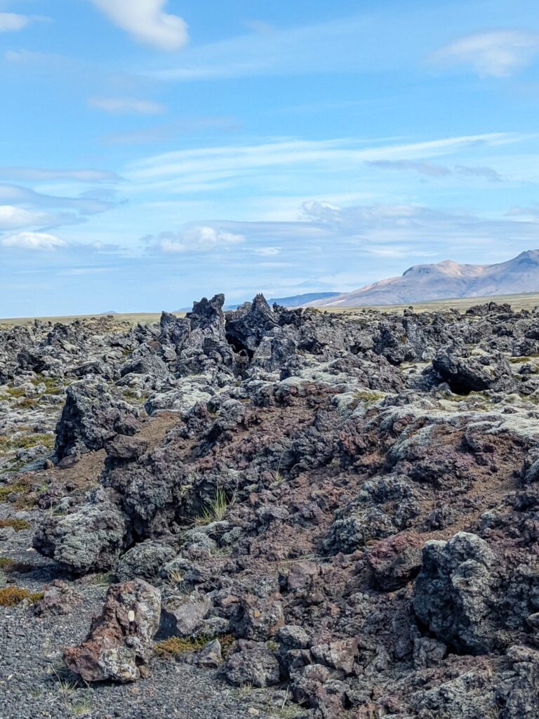
[[[20,531],[0,541],[2,557],[30,562],[32,572],[4,574],[0,585],[17,585],[32,592],[61,577],[54,563],[28,551],[32,531]],[[73,582],[82,600],[67,616],[39,618],[24,603],[0,607],[1,719],[261,719],[302,716],[297,707],[282,709],[286,691],[241,690],[221,682],[216,672],[174,659],[156,658],[152,674],[137,684],[77,681],[62,661],[65,646],[86,637],[91,619],[106,595],[106,577]],[[285,702],[286,703],[286,702]]]

